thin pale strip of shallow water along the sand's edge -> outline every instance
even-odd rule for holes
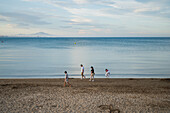
[[[90,74],[85,74],[90,78]],[[0,75],[0,79],[56,79],[64,78],[64,74],[59,75]],[[81,78],[80,74],[69,74],[69,78]],[[104,74],[95,74],[95,78],[106,78]],[[109,78],[170,78],[170,74],[111,74]]]

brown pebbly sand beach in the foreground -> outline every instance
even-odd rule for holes
[[[170,79],[0,79],[0,111],[169,113]]]

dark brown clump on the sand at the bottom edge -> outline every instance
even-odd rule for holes
[[[110,105],[100,105],[98,106],[100,109],[102,110],[107,110],[109,109],[109,113],[120,113],[120,110],[119,109],[113,109],[113,105],[110,104]]]

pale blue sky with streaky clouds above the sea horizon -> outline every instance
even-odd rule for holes
[[[0,0],[0,36],[170,37],[170,0]]]

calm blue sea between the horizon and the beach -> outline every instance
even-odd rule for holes
[[[76,44],[75,44],[76,43]],[[0,78],[170,78],[170,38],[0,38]]]

